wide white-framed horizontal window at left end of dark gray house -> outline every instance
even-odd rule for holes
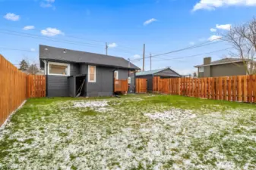
[[[48,74],[55,76],[69,76],[70,64],[69,63],[48,63]]]

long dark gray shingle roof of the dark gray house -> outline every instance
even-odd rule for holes
[[[40,60],[57,60],[72,63],[90,63],[103,66],[114,66],[131,70],[140,70],[139,67],[130,63],[122,57],[96,54],[84,51],[74,51],[65,48],[55,48],[40,45]]]

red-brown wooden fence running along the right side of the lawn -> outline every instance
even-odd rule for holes
[[[201,79],[154,77],[153,92],[256,103],[256,75]]]

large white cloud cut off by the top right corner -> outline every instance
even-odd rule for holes
[[[192,11],[215,10],[223,6],[256,6],[256,0],[200,0]]]

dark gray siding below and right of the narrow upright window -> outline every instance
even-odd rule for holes
[[[113,71],[111,67],[96,66],[96,82],[87,81],[87,97],[111,96],[114,84]]]

